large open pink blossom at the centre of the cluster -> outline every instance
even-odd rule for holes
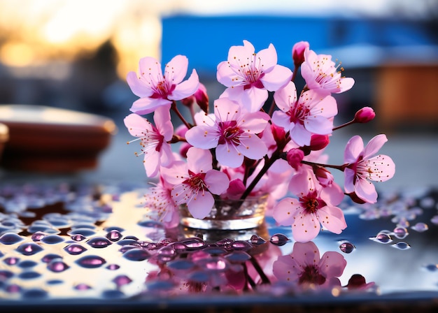
[[[238,167],[243,157],[261,159],[267,147],[257,136],[267,124],[269,115],[264,112],[242,112],[240,106],[227,98],[214,102],[214,119],[206,116],[205,122],[192,127],[185,134],[190,145],[202,149],[216,147],[216,159],[224,166]]]

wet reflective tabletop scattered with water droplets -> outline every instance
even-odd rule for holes
[[[343,233],[323,231],[299,246],[290,227],[270,217],[245,231],[165,229],[141,204],[145,188],[80,180],[0,183],[1,312],[438,308],[435,189],[383,191],[376,205],[345,201]],[[299,253],[310,250],[321,266],[328,255],[343,260],[340,275],[323,277],[323,270],[306,272],[302,264],[299,278],[288,281],[296,275],[280,260],[289,262],[292,253],[304,258]]]

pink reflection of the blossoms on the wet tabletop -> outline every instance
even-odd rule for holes
[[[193,242],[197,242],[196,247]],[[171,258],[161,258],[162,249],[174,249]],[[167,296],[211,292],[296,294],[367,291],[374,287],[374,282],[367,283],[360,274],[353,275],[342,286],[339,277],[346,268],[346,259],[338,252],[320,256],[313,242],[295,242],[292,253],[283,255],[280,247],[268,241],[257,245],[251,240],[226,238],[205,242],[201,238],[186,238],[149,252],[155,253],[149,261],[156,263],[158,270],[146,277],[148,294],[154,291]]]

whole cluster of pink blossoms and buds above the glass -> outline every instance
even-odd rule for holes
[[[362,108],[346,124],[334,126],[337,101],[333,94],[353,87],[353,78],[327,54],[300,42],[292,49],[295,68],[277,64],[274,45],[255,52],[248,41],[229,48],[218,64],[217,79],[225,90],[209,111],[206,87],[197,72],[188,72],[188,59],[178,55],[164,66],[145,57],[127,82],[140,97],[125,118],[129,133],[139,140],[146,175],[159,182],[146,194],[148,208],[160,221],[178,224],[178,205],[186,203],[194,217],[206,217],[216,198],[246,198],[269,194],[278,224],[291,226],[293,238],[308,242],[321,226],[333,233],[346,228],[337,207],[344,196],[357,203],[377,199],[372,182],[390,179],[395,165],[377,154],[385,135],[369,141],[354,136],[346,144],[344,164],[326,164],[324,148],[332,132],[374,119],[372,108]],[[297,92],[295,77],[301,68],[306,86]],[[272,103],[267,103],[273,94]],[[191,121],[178,109],[188,108]],[[270,107],[269,107],[270,105]],[[170,110],[180,119],[171,121]],[[153,122],[141,115],[153,113]],[[134,140],[133,140],[134,141]],[[171,145],[179,144],[177,149]],[[176,146],[175,146],[176,147]],[[344,190],[334,182],[330,168],[345,175]]]

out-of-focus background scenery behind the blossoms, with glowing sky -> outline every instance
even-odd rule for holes
[[[355,79],[337,95],[341,124],[362,106],[376,119],[336,133],[332,163],[348,138],[387,133],[382,150],[397,165],[395,187],[435,184],[438,156],[438,1],[436,0],[0,0],[0,103],[48,105],[114,120],[118,133],[89,179],[146,180],[122,119],[137,98],[125,82],[141,57],[189,58],[211,102],[225,89],[216,66],[246,39],[273,43],[278,63],[309,41]],[[298,82],[299,84],[300,82]],[[418,161],[418,158],[423,158]],[[117,165],[117,166],[115,166]]]

